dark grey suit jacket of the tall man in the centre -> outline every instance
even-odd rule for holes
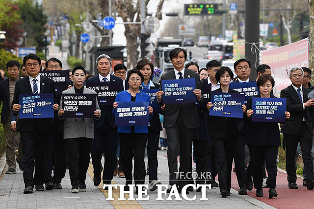
[[[189,76],[189,77],[188,77]],[[196,89],[202,90],[200,75],[193,70],[188,70],[185,68],[183,79],[187,78],[194,78],[195,79],[195,87]],[[159,89],[162,90],[162,80],[175,80],[176,75],[174,70],[170,70],[165,74],[161,75],[160,77],[160,87]],[[202,91],[202,98],[198,101],[198,103],[202,103],[204,101],[203,91]],[[158,104],[162,105],[161,101],[157,101]],[[177,118],[179,113],[183,115],[183,123],[187,128],[197,128],[200,126],[200,120],[197,114],[197,106],[195,103],[176,103],[176,104],[166,104],[164,115],[163,115],[163,127],[170,128],[172,127]]]

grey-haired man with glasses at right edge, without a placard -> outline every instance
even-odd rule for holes
[[[288,174],[288,186],[297,189],[295,153],[298,142],[302,150],[307,189],[314,188],[313,161],[311,157],[312,139],[314,130],[314,99],[308,98],[311,90],[302,87],[304,71],[300,67],[291,68],[289,77],[292,85],[283,89],[280,97],[287,98],[287,111],[290,119],[283,124],[284,142],[286,143],[286,169]]]

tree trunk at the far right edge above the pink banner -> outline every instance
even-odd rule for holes
[[[310,10],[310,54],[309,54],[309,69],[314,72],[314,0],[309,0],[309,10]]]

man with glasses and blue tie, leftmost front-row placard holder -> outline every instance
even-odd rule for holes
[[[12,102],[12,112],[17,115],[21,109],[19,104],[19,94],[21,93],[54,93],[52,79],[39,75],[40,58],[33,53],[26,55],[23,59],[28,76],[20,79],[15,84],[14,98]],[[56,102],[56,98],[54,98]],[[52,105],[57,111],[59,105]],[[35,185],[36,191],[44,191],[45,159],[48,145],[48,138],[52,134],[53,118],[40,119],[19,119],[17,131],[21,132],[23,145],[23,177],[25,183],[24,193],[32,193]],[[35,163],[34,163],[35,162]],[[35,176],[33,176],[34,165],[36,166]]]

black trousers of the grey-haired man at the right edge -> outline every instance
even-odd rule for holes
[[[310,133],[306,122],[303,121],[302,126],[297,134],[284,134],[286,141],[286,169],[288,174],[288,182],[296,182],[295,169],[295,153],[300,141],[302,158],[306,172],[307,181],[314,180],[313,160],[311,157],[313,133]]]

